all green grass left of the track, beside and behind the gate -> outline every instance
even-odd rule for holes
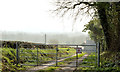
[[[68,50],[69,49],[69,50]],[[38,53],[37,53],[38,52]],[[58,59],[69,57],[75,54],[74,48],[58,48]],[[37,58],[38,56],[38,58]],[[36,65],[37,59],[38,64],[46,63],[47,61],[54,61],[56,57],[56,49],[19,49],[19,64],[16,67],[16,49],[13,48],[2,48],[2,70],[3,71],[16,71],[25,70],[30,66],[21,66],[20,64]],[[31,66],[32,67],[32,66]]]

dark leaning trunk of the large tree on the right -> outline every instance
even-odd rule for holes
[[[115,34],[115,29],[113,29],[108,23],[108,19],[107,19],[107,14],[106,14],[106,8],[105,6],[101,6],[103,5],[103,3],[99,4],[97,6],[98,8],[98,14],[99,14],[99,18],[100,18],[100,22],[101,25],[103,27],[103,31],[104,31],[104,35],[105,35],[105,40],[106,40],[106,44],[107,44],[107,50],[109,51],[120,51],[120,37],[119,34]],[[106,5],[106,3],[104,3],[104,5]],[[112,24],[114,25],[114,24]],[[120,27],[120,26],[119,26]]]

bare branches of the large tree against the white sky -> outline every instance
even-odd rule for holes
[[[65,15],[71,16],[75,21],[84,17],[94,17],[96,12],[96,6],[94,2],[84,2],[82,0],[56,0],[55,1],[56,9],[53,10],[55,14],[60,17]]]

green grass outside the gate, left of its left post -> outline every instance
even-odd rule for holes
[[[16,67],[16,50],[12,48],[2,48],[2,71],[23,70],[24,67]]]

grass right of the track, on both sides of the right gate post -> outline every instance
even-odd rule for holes
[[[85,58],[82,63],[80,63],[80,65],[82,66],[91,66],[91,67],[79,67],[78,71],[79,70],[85,70],[86,72],[92,72],[92,71],[118,72],[120,71],[120,67],[114,65],[114,62],[109,61],[109,60],[112,60],[110,59],[110,57],[108,58],[109,60],[104,59],[104,54],[105,53],[101,54],[103,56],[101,56],[100,67],[97,67],[97,64],[93,63],[96,61],[96,55],[95,53],[92,53],[87,58]],[[88,62],[91,62],[91,63],[88,63]]]

